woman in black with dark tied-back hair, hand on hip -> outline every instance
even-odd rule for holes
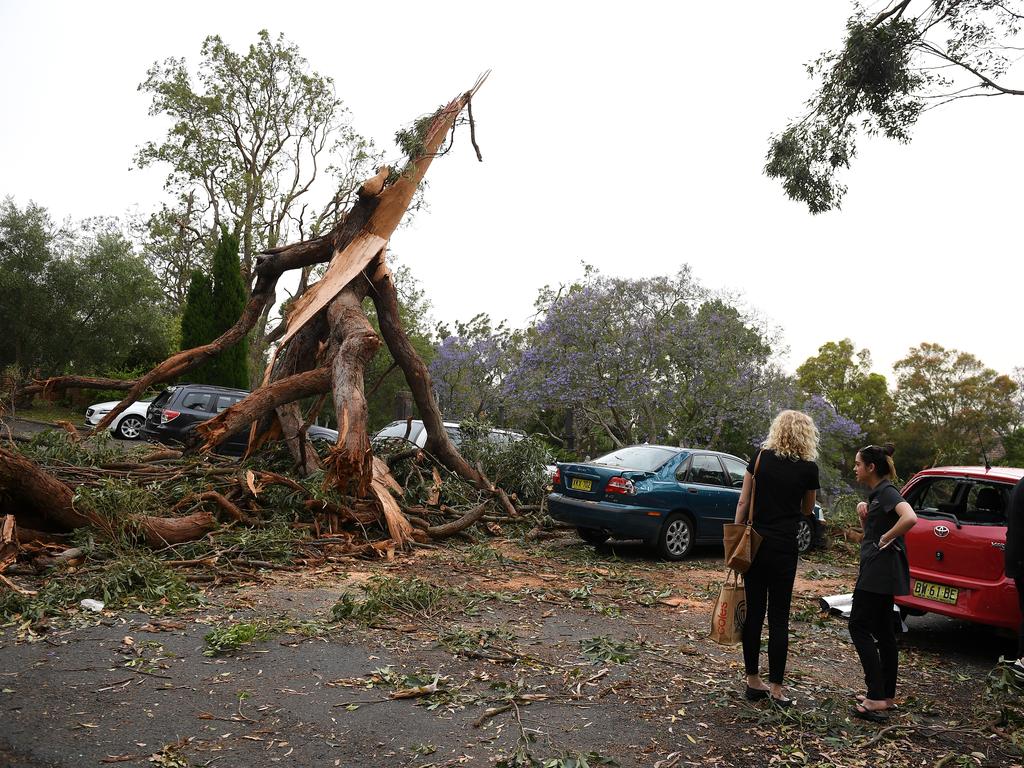
[[[853,465],[857,482],[869,492],[867,501],[857,505],[864,539],[850,611],[850,637],[864,668],[867,692],[858,696],[852,714],[872,722],[885,720],[883,713],[895,707],[899,651],[893,596],[910,592],[903,535],[918,522],[913,508],[892,484],[896,479],[894,452],[891,442],[865,445]]]

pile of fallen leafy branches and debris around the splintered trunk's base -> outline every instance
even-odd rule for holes
[[[67,492],[51,500],[53,514],[23,511],[15,519],[16,496],[0,490],[0,618],[42,622],[83,599],[174,610],[200,599],[196,584],[390,559],[395,523],[382,507],[424,546],[457,535],[496,535],[508,523],[536,525],[546,450],[532,438],[496,446],[486,430],[468,424],[463,451],[513,489],[513,502],[531,502],[518,504],[515,516],[493,494],[400,439],[377,446],[377,503],[342,494],[327,469],[290,476],[293,460],[282,443],[244,461],[152,445],[126,454],[106,437],[82,440],[74,431],[0,449]],[[83,524],[61,529],[68,520]],[[19,583],[24,577],[41,581],[30,589]]]

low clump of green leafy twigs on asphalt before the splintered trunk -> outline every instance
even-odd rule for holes
[[[430,618],[442,611],[464,610],[471,596],[457,589],[431,584],[419,577],[375,575],[360,585],[362,595],[346,592],[331,609],[336,622],[372,625],[389,616]]]

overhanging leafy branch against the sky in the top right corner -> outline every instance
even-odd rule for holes
[[[807,67],[815,91],[772,137],[765,173],[811,213],[839,208],[862,135],[901,142],[927,111],[978,96],[1024,95],[1005,82],[1024,23],[1021,0],[890,0],[857,4],[838,50]]]

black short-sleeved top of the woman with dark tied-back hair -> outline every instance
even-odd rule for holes
[[[910,566],[903,537],[885,549],[879,548],[882,535],[899,520],[896,506],[903,497],[889,480],[883,480],[867,495],[864,540],[860,543],[860,572],[857,589],[881,595],[910,594]]]

